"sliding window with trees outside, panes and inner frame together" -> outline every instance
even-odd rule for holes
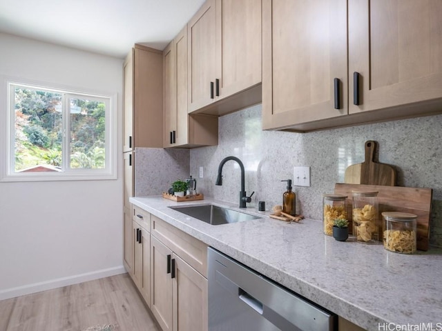
[[[10,152],[3,180],[116,177],[112,97],[18,83],[8,83],[8,91]]]

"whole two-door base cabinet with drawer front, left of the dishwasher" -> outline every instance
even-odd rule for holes
[[[207,245],[152,215],[151,310],[162,330],[208,329]]]

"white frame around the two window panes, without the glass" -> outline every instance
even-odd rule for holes
[[[75,169],[70,168],[70,138],[64,139],[62,146],[62,164],[60,172],[15,172],[15,86],[32,88],[34,90],[49,90],[64,95],[64,102],[70,98],[104,101],[106,104],[105,119],[105,168],[102,169]],[[84,91],[65,86],[54,87],[48,83],[24,81],[23,79],[3,79],[1,95],[5,95],[0,105],[5,107],[6,121],[0,125],[0,181],[75,181],[75,180],[100,180],[117,179],[117,94]],[[66,135],[68,130],[68,110],[63,107],[63,128]],[[1,117],[0,117],[1,119]],[[3,130],[4,129],[4,130]]]

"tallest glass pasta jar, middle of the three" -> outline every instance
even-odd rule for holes
[[[374,244],[379,240],[378,192],[352,191],[353,234],[358,243]]]

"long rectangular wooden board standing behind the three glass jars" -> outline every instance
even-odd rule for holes
[[[350,223],[353,223],[351,212],[353,209],[353,190],[378,191],[379,217],[381,221],[381,212],[410,212],[411,214],[416,214],[417,249],[428,250],[433,195],[431,188],[404,188],[401,186],[336,183],[334,186],[335,194],[347,195]],[[350,229],[352,229],[352,227],[350,227]]]

